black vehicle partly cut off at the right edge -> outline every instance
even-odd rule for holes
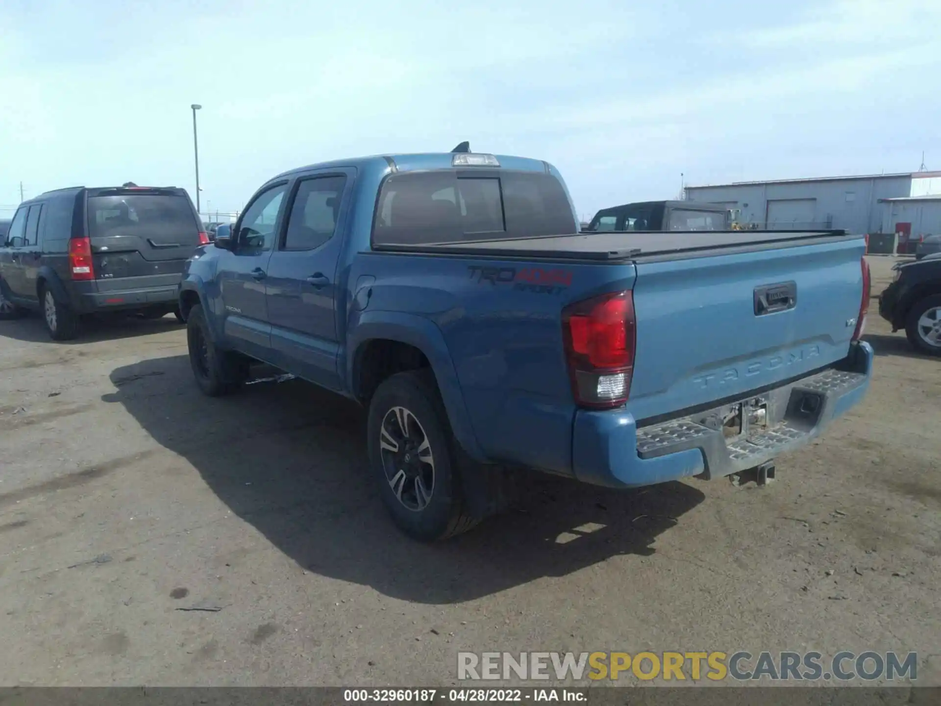
[[[879,314],[905,329],[918,350],[941,356],[941,253],[893,267],[895,279],[879,296]]]

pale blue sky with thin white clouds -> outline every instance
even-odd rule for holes
[[[579,212],[688,184],[941,168],[941,2],[4,0],[0,208],[180,185],[241,208],[377,152],[547,159]],[[9,217],[0,210],[0,217]]]

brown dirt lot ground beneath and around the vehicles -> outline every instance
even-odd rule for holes
[[[2,322],[0,682],[447,685],[457,650],[744,649],[917,650],[941,683],[941,361],[874,312],[868,338],[865,403],[766,489],[537,476],[423,546],[343,399],[207,399],[172,316],[71,344]]]

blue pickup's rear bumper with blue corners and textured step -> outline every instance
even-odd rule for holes
[[[729,439],[722,428],[710,426],[710,414],[729,404],[641,428],[625,411],[580,410],[573,436],[575,475],[593,485],[636,488],[753,468],[820,435],[862,401],[871,374],[871,346],[855,344],[832,368],[750,395],[748,401],[764,402],[769,425],[745,428]]]

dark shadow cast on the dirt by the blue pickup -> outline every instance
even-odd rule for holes
[[[186,458],[298,565],[407,601],[470,601],[619,554],[654,554],[653,541],[704,500],[682,483],[613,491],[527,473],[517,509],[423,545],[386,515],[367,466],[365,413],[354,403],[300,380],[209,399],[184,356],[121,367],[111,379],[122,384],[105,402]]]

